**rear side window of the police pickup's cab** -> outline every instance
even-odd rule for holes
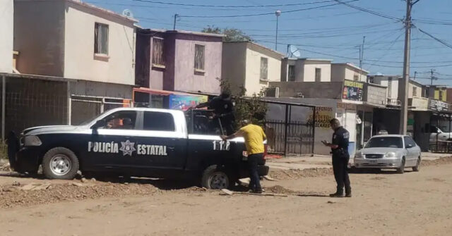
[[[143,130],[175,131],[174,118],[171,113],[145,111]]]

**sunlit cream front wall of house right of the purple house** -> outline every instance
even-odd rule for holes
[[[263,49],[256,44],[248,43],[246,47],[246,75],[245,88],[246,96],[261,92],[263,87],[268,87],[268,82],[261,81],[261,58],[268,59],[267,78],[268,81],[281,80],[281,58],[280,54],[273,51]]]

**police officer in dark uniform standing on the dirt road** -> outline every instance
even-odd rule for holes
[[[331,129],[334,130],[333,140],[331,143],[322,141],[325,146],[331,147],[333,154],[333,173],[337,183],[337,190],[330,194],[330,197],[352,197],[352,188],[350,187],[350,179],[348,178],[347,166],[350,159],[348,154],[348,139],[350,133],[340,125],[338,119],[330,120]]]

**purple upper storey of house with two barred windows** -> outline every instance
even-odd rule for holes
[[[136,85],[219,94],[222,37],[183,30],[139,29]]]

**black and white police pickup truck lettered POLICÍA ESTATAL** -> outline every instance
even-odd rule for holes
[[[42,165],[49,179],[72,179],[78,170],[84,175],[198,178],[213,189],[249,177],[244,139],[223,141],[218,130],[209,134],[199,128],[208,126],[202,118],[193,111],[114,108],[82,125],[28,128],[10,156],[11,167],[34,174]],[[258,171],[267,175],[268,166]]]

